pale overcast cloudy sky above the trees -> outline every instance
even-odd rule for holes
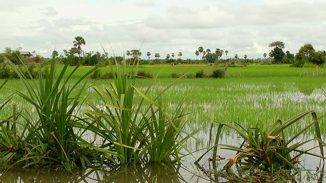
[[[182,52],[182,59],[196,59],[200,46],[261,58],[273,41],[283,41],[284,52],[293,54],[306,43],[326,49],[325,0],[1,2],[0,52],[22,47],[50,57],[73,47],[76,36],[85,39],[85,51],[122,56],[140,49],[143,59],[148,51],[151,58]]]

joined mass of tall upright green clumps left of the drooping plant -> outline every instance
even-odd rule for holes
[[[116,74],[102,90],[89,85],[87,80],[100,66],[71,82],[71,77],[83,64],[80,62],[66,75],[72,58],[67,59],[56,77],[57,65],[53,57],[51,62],[40,66],[37,80],[31,79],[35,77],[28,66],[23,65],[26,68],[23,71],[7,60],[25,88],[15,91],[17,97],[33,108],[18,111],[15,105],[7,105],[11,98],[0,108],[9,107],[13,111],[0,124],[2,168],[30,169],[51,165],[73,171],[94,166],[180,161],[180,153],[186,149],[184,144],[192,133],[184,131],[183,102],[172,112],[167,111],[162,102],[164,92],[173,83],[163,89],[149,85],[142,92],[135,83],[139,77],[137,68],[127,72],[125,64],[123,69],[110,65],[111,73]],[[94,104],[83,96],[90,87],[99,95],[101,103]],[[150,90],[157,91],[156,97],[147,95]],[[85,111],[86,115],[78,115],[84,102],[90,110]]]

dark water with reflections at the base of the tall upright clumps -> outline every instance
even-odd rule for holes
[[[0,182],[189,182],[179,173],[181,166],[150,163],[143,166],[90,169],[77,173],[66,171],[4,171]]]

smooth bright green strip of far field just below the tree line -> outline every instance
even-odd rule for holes
[[[122,66],[120,66],[122,67]],[[58,68],[58,72],[60,69]],[[182,75],[189,74],[195,76],[197,72],[203,70],[205,74],[212,74],[213,69],[216,66],[208,65],[141,65],[139,71],[144,71],[152,75],[156,75],[164,68],[164,71],[160,73],[158,78],[170,78],[173,74]],[[224,69],[224,65],[219,65],[217,68]],[[92,67],[80,67],[73,77],[80,77],[83,73],[86,73],[92,69]],[[132,71],[134,66],[127,68],[128,71]],[[67,69],[67,73],[72,71],[73,67]],[[110,68],[101,67],[101,73],[111,73]],[[240,78],[240,77],[326,77],[325,68],[293,68],[290,65],[239,65],[239,67],[228,67],[226,71],[227,78]]]

